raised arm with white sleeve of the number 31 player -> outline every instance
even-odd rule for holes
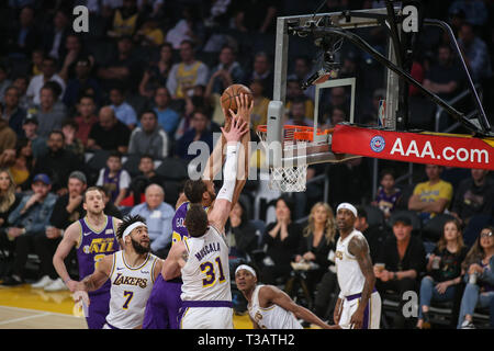
[[[233,112],[232,112],[233,113]],[[237,163],[238,163],[238,148],[242,136],[248,132],[247,124],[242,121],[238,115],[234,115],[232,120],[232,127],[227,132],[222,128],[223,134],[227,140],[226,161],[224,167],[223,186],[218,191],[214,207],[207,214],[210,224],[223,231],[229,211],[232,210],[232,201],[237,180]]]

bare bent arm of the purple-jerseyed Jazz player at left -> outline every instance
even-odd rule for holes
[[[58,276],[64,281],[70,292],[76,291],[77,282],[70,279],[70,275],[65,265],[65,259],[70,253],[70,250],[77,246],[80,239],[80,225],[78,222],[72,223],[65,230],[65,235],[58,244],[57,250],[53,256],[53,265],[57,271]]]

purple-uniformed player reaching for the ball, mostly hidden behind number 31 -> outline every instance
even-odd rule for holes
[[[247,98],[242,95],[240,98],[237,98],[237,106],[239,106],[237,116],[248,123],[250,121],[252,104],[248,105]],[[229,129],[232,117],[226,111],[223,111],[223,113],[226,116],[225,129]],[[250,137],[248,133],[242,137],[244,149],[247,149],[249,140]],[[206,212],[213,206],[214,200],[216,199],[216,192],[212,179],[214,179],[215,173],[221,171],[222,150],[225,143],[225,137],[222,134],[221,141],[216,144],[207,160],[203,179],[188,180],[186,182],[183,195],[177,201],[176,214],[172,219],[172,245],[183,241],[189,237],[184,219],[191,204],[201,204]],[[245,162],[245,167],[244,174],[247,177],[248,162]],[[246,181],[244,178],[237,179],[232,204],[235,204],[240,195]],[[144,329],[178,329],[178,317],[181,307],[181,286],[182,279],[180,276],[168,281],[164,280],[161,275],[158,276],[146,304],[143,321]]]

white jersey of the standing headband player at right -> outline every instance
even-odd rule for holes
[[[336,274],[338,276],[338,284],[341,288],[343,296],[349,296],[353,294],[359,294],[363,290],[366,284],[366,278],[360,270],[359,262],[355,256],[348,252],[348,244],[353,237],[360,237],[366,240],[363,234],[359,230],[353,229],[349,236],[341,240],[338,239],[336,244],[335,263],[336,263]]]

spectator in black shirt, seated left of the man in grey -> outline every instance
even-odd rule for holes
[[[89,150],[117,150],[126,154],[131,131],[120,122],[110,106],[101,107],[99,122],[93,124],[88,136]]]

